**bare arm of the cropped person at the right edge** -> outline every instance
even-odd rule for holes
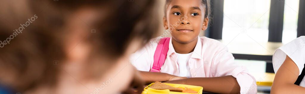
[[[284,63],[275,74],[274,81],[271,87],[271,94],[300,94],[305,92],[305,88],[295,85],[296,79],[299,76],[299,68],[286,56]]]

